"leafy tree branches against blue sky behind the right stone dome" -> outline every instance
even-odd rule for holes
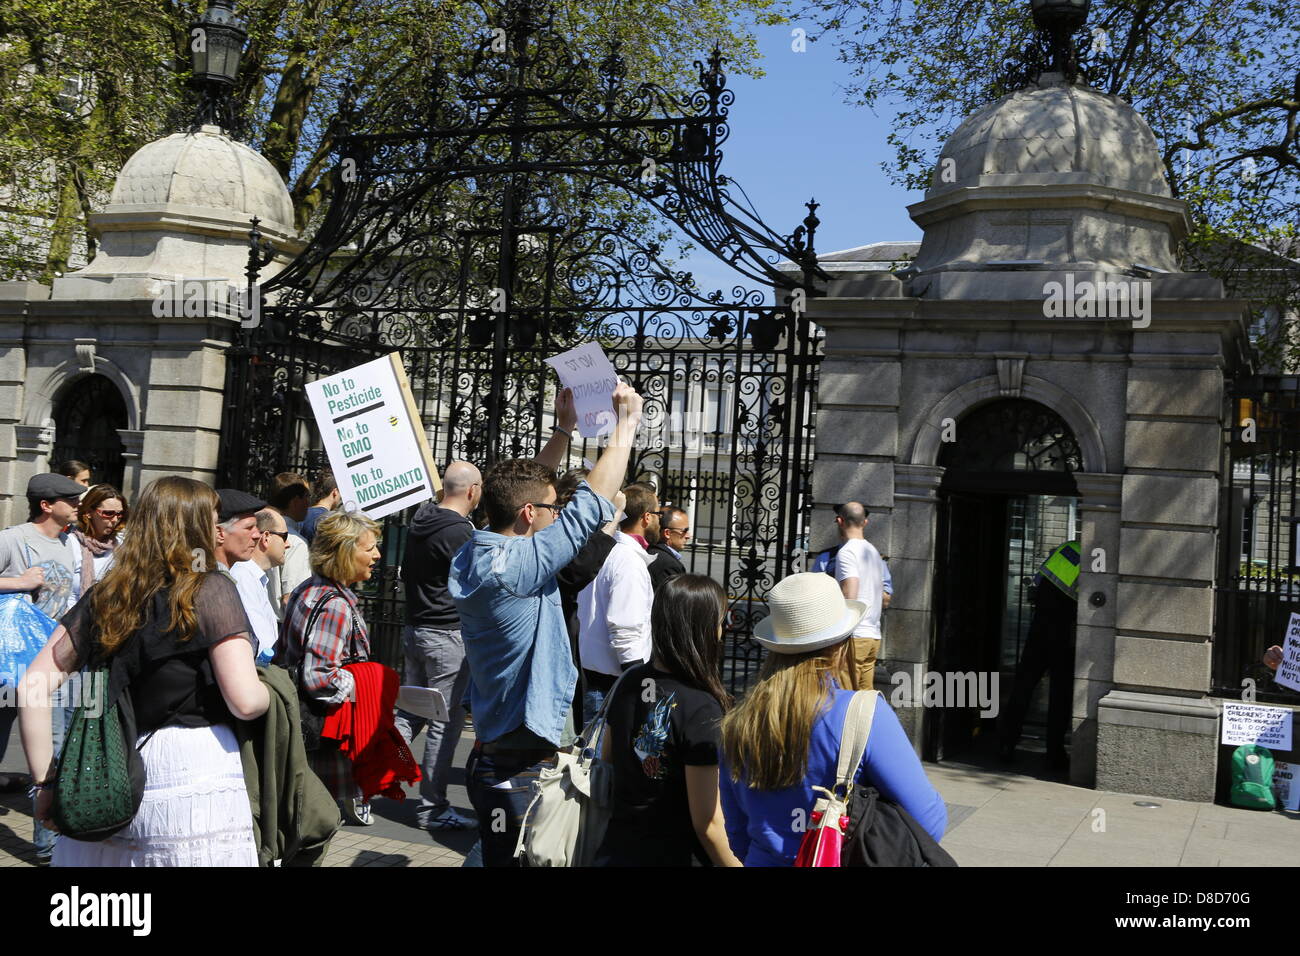
[[[853,66],[848,96],[896,108],[890,178],[924,189],[962,118],[1010,92],[1034,38],[1024,0],[797,0]],[[1078,38],[1087,82],[1150,124],[1200,264],[1260,306],[1295,310],[1300,259],[1300,17],[1291,0],[1096,0]]]

